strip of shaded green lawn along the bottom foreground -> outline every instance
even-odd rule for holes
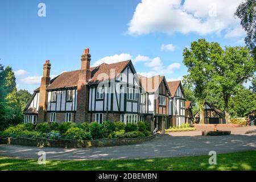
[[[0,157],[0,170],[256,170],[256,151],[218,154],[217,165],[210,166],[210,156],[133,160],[46,160]]]

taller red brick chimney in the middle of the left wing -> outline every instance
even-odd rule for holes
[[[77,82],[77,123],[88,122],[89,88],[86,84],[90,78],[90,53],[89,48],[86,48],[81,56],[81,71],[79,73],[79,81]]]

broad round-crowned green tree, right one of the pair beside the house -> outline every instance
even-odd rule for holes
[[[242,84],[253,76],[256,60],[251,57],[246,47],[225,47],[211,57],[214,66],[209,88],[218,93],[224,101],[226,122],[230,121],[229,100],[243,88]]]

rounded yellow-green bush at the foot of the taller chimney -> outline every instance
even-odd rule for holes
[[[89,132],[85,132],[79,127],[71,127],[65,133],[65,138],[73,140],[90,140],[92,139],[92,136]]]

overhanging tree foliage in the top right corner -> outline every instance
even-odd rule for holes
[[[246,0],[238,6],[236,16],[241,19],[241,25],[247,32],[245,43],[251,49],[256,59],[256,1]]]

